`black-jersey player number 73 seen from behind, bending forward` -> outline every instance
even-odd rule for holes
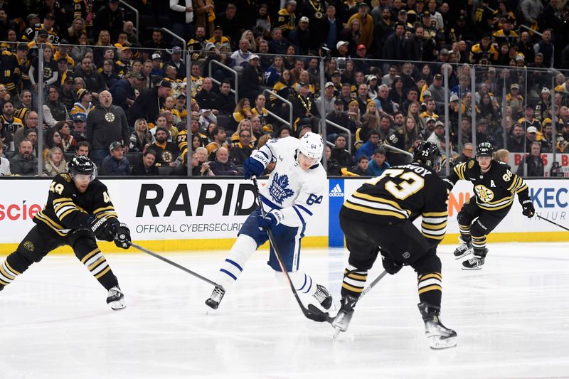
[[[447,227],[448,190],[437,175],[441,154],[420,142],[413,163],[395,166],[351,195],[340,210],[340,226],[350,252],[341,288],[341,309],[332,326],[346,331],[365,287],[368,269],[381,252],[389,274],[404,265],[418,274],[418,304],[431,348],[456,346],[457,333],[440,322],[441,262],[437,245]],[[413,220],[422,215],[421,230]]]

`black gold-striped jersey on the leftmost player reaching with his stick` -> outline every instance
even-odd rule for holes
[[[80,193],[69,174],[58,174],[49,187],[46,206],[36,213],[33,222],[65,236],[74,229],[87,228],[92,216],[118,218],[107,186],[95,179],[85,193]]]

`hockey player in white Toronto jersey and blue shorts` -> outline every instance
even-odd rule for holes
[[[267,164],[276,163],[267,185],[260,188],[267,214],[262,217],[257,208],[245,220],[216,279],[223,289],[213,289],[211,297],[206,300],[208,306],[218,308],[225,291],[243,272],[252,253],[267,241],[267,229],[271,229],[294,288],[299,294],[312,295],[324,309],[330,308],[332,297],[326,287],[316,284],[309,274],[299,271],[300,241],[307,221],[321,205],[326,193],[326,171],[319,163],[323,151],[320,135],[309,132],[300,139],[272,139],[253,151],[244,162],[245,179],[261,176]],[[281,271],[272,246],[267,264],[275,271]]]

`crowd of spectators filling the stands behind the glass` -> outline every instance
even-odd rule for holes
[[[568,1],[151,4],[185,45],[137,33],[117,0],[4,1],[0,175],[38,174],[41,156],[53,176],[79,149],[102,175],[238,175],[267,139],[322,132],[321,119],[330,175],[379,175],[407,160],[390,146],[422,139],[454,164],[473,129],[530,154],[528,175],[569,150]]]

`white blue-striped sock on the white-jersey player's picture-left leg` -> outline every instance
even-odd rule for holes
[[[231,284],[235,283],[241,272],[243,272],[245,263],[255,250],[257,250],[257,242],[255,242],[252,237],[244,234],[239,235],[233,247],[231,247],[229,255],[225,258],[225,261],[219,269],[216,282],[227,290]]]

